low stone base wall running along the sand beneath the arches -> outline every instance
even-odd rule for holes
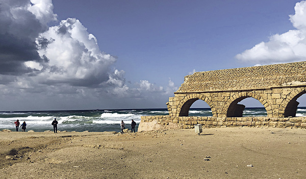
[[[163,129],[192,129],[194,124],[203,127],[290,127],[306,129],[306,117],[173,117],[173,116],[141,116],[138,131]]]

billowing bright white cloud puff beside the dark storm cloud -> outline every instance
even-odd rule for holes
[[[110,67],[116,58],[100,52],[96,38],[75,18],[62,20],[50,27],[37,40],[50,39],[38,52],[48,63],[39,76],[44,83],[67,83],[73,86],[92,86],[107,82]],[[39,45],[42,46],[42,45]]]

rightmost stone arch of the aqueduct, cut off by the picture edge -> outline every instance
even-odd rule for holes
[[[282,105],[279,107],[278,114],[281,115],[280,117],[295,117],[297,106],[299,105],[298,99],[301,95],[306,93],[305,87],[296,88],[293,91],[291,91],[287,97],[286,100],[283,101]]]

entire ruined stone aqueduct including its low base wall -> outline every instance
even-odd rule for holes
[[[296,99],[306,93],[306,62],[195,72],[169,97],[169,115],[141,116],[138,131],[190,129],[194,124],[218,126],[271,126],[306,129],[306,117],[296,117]],[[243,117],[241,100],[252,97],[267,112]],[[188,116],[196,100],[205,101],[212,116]]]

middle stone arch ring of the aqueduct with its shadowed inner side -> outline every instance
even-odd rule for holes
[[[272,108],[269,103],[261,97],[260,95],[253,92],[239,92],[231,96],[225,103],[222,110],[222,117],[242,117],[242,112],[244,110],[244,105],[239,105],[238,103],[248,97],[252,97],[260,101],[260,103],[265,107],[267,111],[267,116],[272,117]],[[237,116],[238,114],[238,116]]]

